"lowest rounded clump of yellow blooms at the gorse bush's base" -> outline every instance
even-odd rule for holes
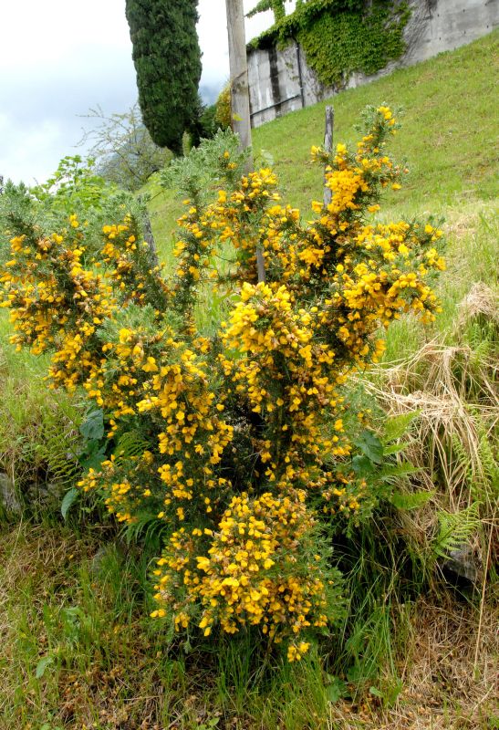
[[[336,591],[319,556],[307,555],[315,543],[305,503],[305,493],[290,485],[286,496],[234,496],[216,531],[204,531],[210,547],[203,556],[194,552],[200,530],[175,533],[158,560],[156,599],[165,609],[175,606],[176,627],[200,606],[205,636],[216,624],[227,633],[259,625],[272,641],[290,639],[288,652],[299,659],[308,648],[300,635],[332,620]]]

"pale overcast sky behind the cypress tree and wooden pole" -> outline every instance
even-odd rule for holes
[[[256,0],[244,0],[247,12]],[[294,3],[287,5],[289,12]],[[225,0],[199,0],[201,91],[212,100],[229,75]],[[273,22],[246,20],[249,40]],[[44,181],[75,145],[100,105],[107,113],[137,99],[125,0],[0,0],[0,174]]]

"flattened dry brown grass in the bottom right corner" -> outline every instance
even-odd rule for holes
[[[493,730],[499,721],[499,611],[477,610],[453,598],[413,607],[411,636],[400,647],[403,690],[383,710],[373,699],[360,708],[333,707],[334,730]],[[478,662],[475,662],[476,646]],[[495,714],[495,725],[492,718]]]

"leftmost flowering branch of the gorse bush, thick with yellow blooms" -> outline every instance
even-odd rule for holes
[[[53,384],[73,391],[98,367],[96,328],[116,302],[103,277],[84,268],[83,234],[74,215],[69,222],[63,234],[43,236],[32,228],[15,236],[0,283],[1,306],[10,308],[16,331],[12,341],[35,354],[56,349]]]

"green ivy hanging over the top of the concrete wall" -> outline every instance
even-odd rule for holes
[[[411,15],[394,0],[308,0],[253,41],[258,48],[297,40],[326,86],[344,85],[354,71],[374,74],[405,51]]]

